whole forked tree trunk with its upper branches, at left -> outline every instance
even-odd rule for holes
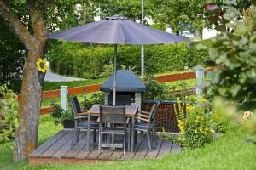
[[[44,25],[45,3],[37,6],[36,0],[26,0],[26,2],[29,8],[32,33],[26,29],[26,26],[23,26],[4,1],[0,0],[1,16],[28,51],[19,99],[19,127],[15,129],[14,161],[26,159],[38,143],[38,122],[44,73],[38,71],[36,63],[39,57],[44,59],[48,32]]]

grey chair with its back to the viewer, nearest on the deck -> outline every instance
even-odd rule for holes
[[[125,146],[126,146],[126,130],[127,125],[129,124],[129,118],[126,118],[125,115],[125,105],[101,105],[100,106],[100,125],[99,125],[99,152],[102,147],[111,147],[111,148],[124,148],[125,154]],[[118,124],[119,126],[108,127],[105,126],[107,124]],[[114,135],[124,135],[124,143],[123,144],[114,144]],[[111,135],[112,142],[109,144],[107,141],[102,143],[103,135]],[[130,133],[128,136],[128,146],[130,146]],[[128,148],[129,150],[129,148]]]

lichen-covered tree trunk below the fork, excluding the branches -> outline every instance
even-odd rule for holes
[[[39,50],[39,49],[38,49]],[[24,75],[21,85],[19,122],[15,130],[14,161],[23,161],[37,147],[38,123],[41,108],[42,84],[44,74],[38,72],[36,65],[39,56],[44,53],[28,52],[24,65]]]

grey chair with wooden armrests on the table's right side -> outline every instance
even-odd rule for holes
[[[152,150],[152,144],[150,138],[153,139],[154,147],[157,145],[156,133],[154,129],[155,115],[160,105],[160,101],[156,101],[152,106],[151,111],[138,111],[135,119],[137,120],[134,124],[134,130],[147,133],[148,148]]]

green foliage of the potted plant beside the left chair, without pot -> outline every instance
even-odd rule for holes
[[[57,104],[54,100],[50,104],[53,110],[50,112],[50,116],[53,117],[55,124],[62,124],[64,120],[73,120],[73,111],[61,108],[61,105]]]

